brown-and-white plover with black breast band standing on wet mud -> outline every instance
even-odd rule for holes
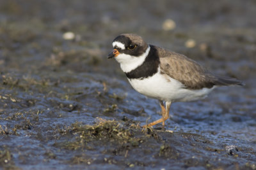
[[[162,118],[144,127],[161,122],[164,127],[173,102],[204,99],[220,86],[243,85],[235,78],[210,73],[185,55],[148,45],[136,34],[117,36],[113,40],[113,48],[108,59],[115,57],[133,89],[159,100]]]

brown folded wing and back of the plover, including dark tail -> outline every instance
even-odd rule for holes
[[[214,85],[243,85],[235,78],[215,76],[185,55],[157,48],[161,72],[180,81],[188,89],[211,88]]]

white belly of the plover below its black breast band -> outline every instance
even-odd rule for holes
[[[182,83],[160,74],[159,71],[149,78],[144,78],[143,80],[131,79],[129,82],[136,91],[145,96],[170,102],[203,99],[214,89],[214,87],[201,90],[185,89]]]

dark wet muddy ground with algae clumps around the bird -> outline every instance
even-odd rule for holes
[[[253,0],[0,1],[0,169],[256,169],[255,8]],[[125,32],[246,86],[174,103],[165,130],[141,132],[160,107],[106,59]]]

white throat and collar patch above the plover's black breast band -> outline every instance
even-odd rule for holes
[[[122,71],[124,71],[125,73],[129,73],[130,71],[136,69],[136,67],[141,66],[141,64],[143,64],[146,57],[148,56],[149,51],[150,46],[148,46],[145,53],[138,57],[134,57],[132,55],[128,55],[125,53],[120,53],[118,56],[115,57],[115,59],[117,60],[117,62],[120,63]]]

